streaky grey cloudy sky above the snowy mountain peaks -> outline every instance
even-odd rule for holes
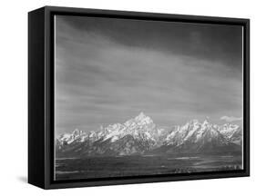
[[[241,121],[242,28],[56,16],[56,136],[146,113]]]

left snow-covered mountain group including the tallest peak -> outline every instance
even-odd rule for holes
[[[101,127],[99,131],[75,130],[71,134],[63,134],[57,139],[56,149],[59,153],[72,153],[73,146],[85,143],[87,148],[79,148],[79,151],[83,149],[80,153],[86,155],[143,153],[156,145],[157,133],[154,122],[144,113],[139,113],[137,117],[124,124],[111,124],[106,128]]]

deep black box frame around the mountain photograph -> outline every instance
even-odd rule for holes
[[[54,15],[80,15],[198,24],[242,25],[243,162],[240,171],[210,171],[141,177],[54,181]],[[250,175],[250,20],[45,6],[28,13],[28,182],[43,189],[158,181],[188,181]]]

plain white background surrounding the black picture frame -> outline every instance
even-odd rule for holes
[[[43,191],[26,183],[27,173],[27,12],[43,5],[59,5],[184,15],[251,18],[251,177],[204,181],[178,181]],[[254,1],[224,0],[27,0],[1,2],[1,195],[242,195],[254,191],[256,105]]]

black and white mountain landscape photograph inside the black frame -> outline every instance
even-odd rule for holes
[[[243,27],[55,15],[55,181],[241,171]]]

